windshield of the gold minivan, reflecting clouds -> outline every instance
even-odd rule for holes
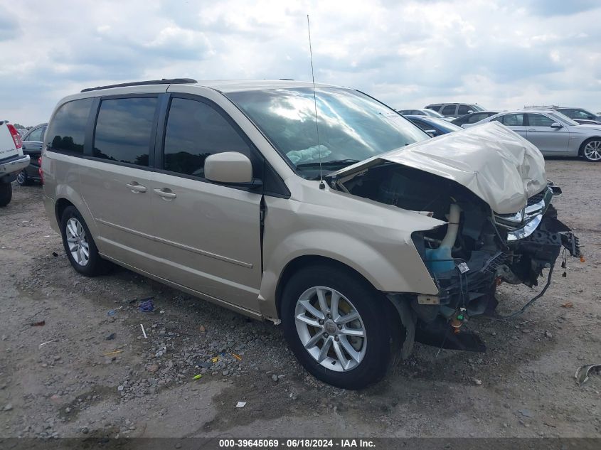
[[[319,147],[313,89],[230,92],[232,100],[304,178],[363,161],[429,136],[394,109],[356,90],[317,87]]]

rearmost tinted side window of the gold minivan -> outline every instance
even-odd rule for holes
[[[83,154],[85,125],[90,107],[92,99],[85,98],[65,103],[58,109],[46,133],[49,150]]]

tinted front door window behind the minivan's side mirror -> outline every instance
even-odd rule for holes
[[[207,156],[239,151],[252,161],[250,146],[216,109],[203,102],[171,100],[165,131],[163,168],[204,178]]]

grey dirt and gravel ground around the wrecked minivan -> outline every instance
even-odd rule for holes
[[[271,323],[125,269],[80,276],[41,188],[14,186],[0,210],[0,436],[600,437],[601,376],[578,387],[574,373],[601,363],[601,164],[547,168],[586,262],[569,259],[566,278],[557,267],[546,296],[515,320],[471,321],[487,353],[417,344],[361,392],[307,375]],[[535,292],[501,286],[499,311]],[[155,311],[138,311],[150,296]]]

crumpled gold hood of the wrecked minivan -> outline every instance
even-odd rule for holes
[[[545,161],[526,139],[499,122],[416,142],[353,164],[328,178],[348,177],[388,161],[465,186],[498,214],[517,213],[547,185]]]

